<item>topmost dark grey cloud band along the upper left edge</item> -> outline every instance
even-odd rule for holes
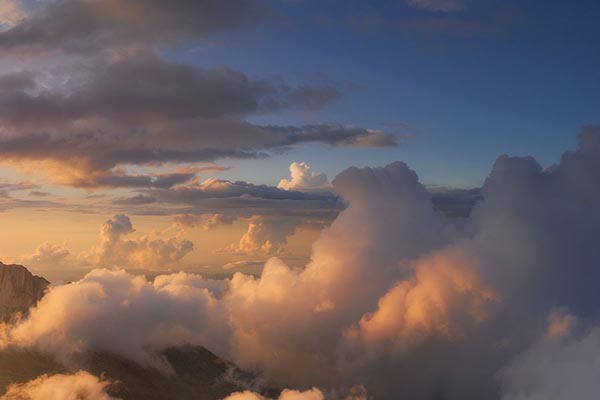
[[[0,33],[2,51],[93,52],[202,40],[250,25],[266,11],[251,0],[64,0],[35,7]]]

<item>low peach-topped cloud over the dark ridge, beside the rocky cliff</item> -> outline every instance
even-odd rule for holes
[[[150,283],[122,270],[99,269],[52,288],[28,319],[4,327],[0,337],[63,360],[96,349],[164,367],[153,351],[169,345],[204,343],[223,351],[226,320],[213,294],[223,284],[183,272]]]

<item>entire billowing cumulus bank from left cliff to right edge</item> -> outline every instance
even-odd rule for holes
[[[303,269],[272,258],[259,278],[220,283],[94,271],[52,289],[0,337],[150,364],[153,350],[201,344],[305,391],[281,399],[344,398],[355,385],[378,399],[566,398],[558,384],[575,398],[598,392],[598,128],[548,169],[498,158],[461,220],[435,211],[400,162],[350,168],[333,188],[347,207]],[[111,221],[108,239],[132,229]]]

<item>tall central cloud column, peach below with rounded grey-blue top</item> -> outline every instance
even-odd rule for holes
[[[272,259],[260,279],[234,275],[227,293],[234,359],[276,382],[327,382],[341,332],[402,276],[400,260],[440,242],[443,218],[404,164],[352,168],[333,184],[349,205],[313,245],[306,268]]]

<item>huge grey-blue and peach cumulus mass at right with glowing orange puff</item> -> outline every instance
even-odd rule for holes
[[[379,398],[497,398],[496,371],[545,334],[540,315],[597,315],[583,277],[597,272],[598,137],[584,129],[548,170],[500,157],[465,224],[432,210],[402,164],[343,172],[333,184],[348,207],[303,271],[272,260],[260,279],[234,276],[234,358],[279,382],[343,376]]]

